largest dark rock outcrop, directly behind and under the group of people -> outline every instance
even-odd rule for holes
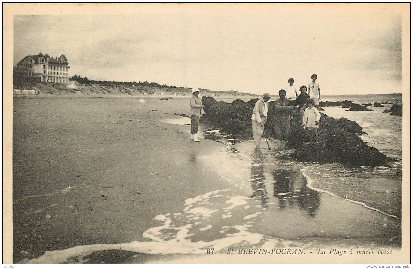
[[[210,123],[221,132],[236,137],[252,137],[252,109],[257,99],[232,104],[202,97],[204,111]],[[355,133],[362,132],[357,123],[347,119],[336,120],[321,113],[319,144],[306,144],[307,132],[301,127],[302,113],[294,111],[291,121],[288,147],[296,149],[294,159],[319,163],[344,163],[348,165],[387,166],[386,156],[377,149],[367,146]],[[267,137],[272,137],[274,102],[268,104],[268,120],[265,126]],[[339,122],[340,121],[340,122]]]

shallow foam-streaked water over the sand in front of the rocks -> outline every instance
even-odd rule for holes
[[[226,140],[219,134],[215,138]],[[121,250],[121,262],[134,263],[142,254],[161,259],[204,255],[207,248],[220,253],[249,247],[400,247],[399,219],[311,189],[299,171],[309,164],[285,165],[291,161],[271,146],[254,151],[253,142],[242,142],[192,156],[199,169],[219,171],[228,188],[211,189],[186,199],[175,212],[161,213],[154,219],[158,224],[143,233],[145,242],[77,246],[22,262],[102,262],[96,257],[109,250]]]

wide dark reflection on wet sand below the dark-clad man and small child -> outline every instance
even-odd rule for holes
[[[301,172],[295,170],[277,169],[273,171],[274,197],[279,199],[278,206],[285,208],[287,203],[299,206],[306,210],[311,217],[315,217],[320,207],[320,195],[317,191],[309,189],[307,180]]]

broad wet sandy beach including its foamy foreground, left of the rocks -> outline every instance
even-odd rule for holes
[[[188,102],[14,98],[14,262],[207,260],[211,246],[290,241],[400,246],[399,219],[310,189],[275,151],[191,142],[171,115]]]

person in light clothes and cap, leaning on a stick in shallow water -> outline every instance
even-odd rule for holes
[[[252,110],[252,135],[254,136],[254,143],[257,149],[259,149],[265,123],[267,122],[268,100],[270,98],[271,95],[268,92],[264,93],[262,97],[256,101],[254,109]]]

